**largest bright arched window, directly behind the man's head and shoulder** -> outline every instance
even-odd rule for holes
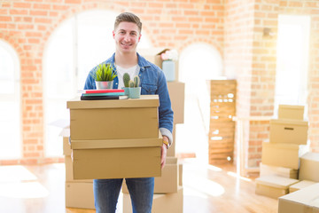
[[[74,15],[51,35],[44,53],[45,155],[62,155],[61,127],[68,125],[66,101],[82,90],[89,70],[112,56],[118,13],[94,10]],[[149,48],[143,34],[139,47]]]

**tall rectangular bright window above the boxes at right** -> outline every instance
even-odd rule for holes
[[[275,115],[280,104],[307,110],[309,34],[310,16],[279,15]]]

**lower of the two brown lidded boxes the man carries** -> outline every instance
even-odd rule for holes
[[[71,140],[74,179],[159,177],[162,137]]]

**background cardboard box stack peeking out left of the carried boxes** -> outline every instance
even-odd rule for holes
[[[75,180],[73,177],[71,146],[69,144],[70,129],[63,129],[60,135],[63,137],[63,154],[66,164],[66,207],[95,209],[93,180]]]

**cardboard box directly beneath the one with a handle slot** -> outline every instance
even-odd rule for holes
[[[262,143],[261,162],[270,166],[298,170],[300,156],[307,153],[308,146],[296,144]]]

